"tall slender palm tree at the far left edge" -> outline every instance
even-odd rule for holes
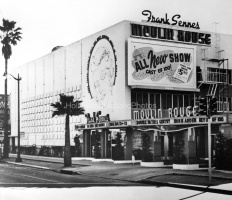
[[[3,19],[3,25],[0,26],[0,39],[2,43],[2,54],[5,58],[5,75],[7,75],[8,59],[12,55],[11,45],[17,45],[17,41],[22,39],[21,28],[15,28],[15,21]],[[4,158],[9,157],[9,140],[8,140],[8,110],[7,110],[7,76],[5,79],[5,121],[4,121]]]

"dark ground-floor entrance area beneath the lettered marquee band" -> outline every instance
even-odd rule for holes
[[[215,134],[211,136],[213,147]],[[131,160],[134,156],[145,162],[195,164],[207,159],[207,141],[207,126],[178,131],[152,126],[85,130],[82,156],[113,160]]]

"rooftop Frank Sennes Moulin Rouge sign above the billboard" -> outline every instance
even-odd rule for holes
[[[143,15],[147,16],[147,22],[164,24],[171,26],[179,26],[183,28],[192,28],[200,29],[198,22],[185,22],[178,20],[181,16],[174,15],[170,20],[168,15],[165,15],[165,18],[154,17],[149,10],[144,10]],[[141,24],[131,24],[131,35],[136,37],[144,37],[150,39],[158,40],[168,40],[175,42],[183,42],[190,44],[199,44],[199,45],[210,45],[211,44],[211,34],[199,33],[195,31],[185,31],[185,30],[175,30],[172,28],[166,27],[156,27],[148,26]]]

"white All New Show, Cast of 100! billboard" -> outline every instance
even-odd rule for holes
[[[130,38],[128,85],[196,89],[196,47]]]

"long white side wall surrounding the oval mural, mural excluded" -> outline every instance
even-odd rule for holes
[[[19,73],[22,77],[20,81],[22,145],[64,145],[64,117],[52,118],[50,106],[51,103],[59,101],[61,93],[73,95],[75,99],[82,100],[82,106],[91,116],[93,112],[101,111],[102,115],[109,114],[111,120],[131,118],[130,89],[126,84],[125,41],[127,38],[125,31],[129,32],[129,23],[119,23],[11,72],[14,75]],[[105,102],[107,104],[97,102],[93,96],[91,98],[87,79],[90,69],[88,64],[91,61],[90,52],[94,50],[93,47],[101,36],[107,36],[108,43],[103,42],[97,48],[104,47],[104,45],[109,48],[111,42],[111,58],[114,53],[117,67],[114,85],[108,94],[108,101]],[[96,49],[95,53],[97,55]],[[14,80],[11,81],[12,107],[15,108],[12,109],[12,135],[16,136],[18,132],[17,83]],[[73,138],[78,133],[75,131],[75,125],[79,123],[86,123],[86,118],[84,116],[71,117],[71,144],[74,144]]]

